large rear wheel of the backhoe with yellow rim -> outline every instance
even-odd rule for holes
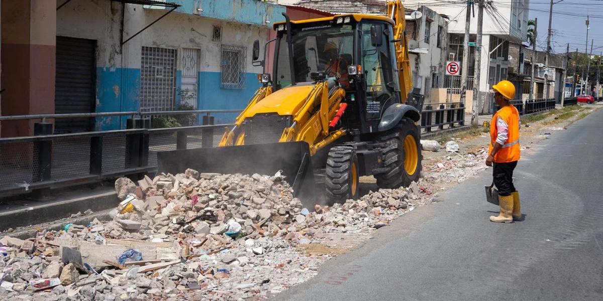
[[[411,119],[403,118],[400,123],[383,132],[377,140],[384,143],[385,166],[391,167],[387,173],[374,175],[379,188],[408,187],[418,181],[421,175],[421,155],[419,128]]]

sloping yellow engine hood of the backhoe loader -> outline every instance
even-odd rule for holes
[[[294,85],[286,87],[266,96],[257,102],[245,117],[253,117],[256,114],[277,113],[279,115],[293,115],[305,103],[314,85]]]

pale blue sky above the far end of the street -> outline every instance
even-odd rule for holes
[[[569,43],[570,52],[584,52],[586,46],[586,16],[590,15],[589,49],[594,39],[593,54],[603,52],[603,0],[554,0],[551,48],[563,53]],[[496,1],[494,1],[496,2]],[[546,34],[549,26],[548,0],[530,0],[529,19],[538,18],[537,48],[546,49]],[[598,49],[597,49],[598,48]]]

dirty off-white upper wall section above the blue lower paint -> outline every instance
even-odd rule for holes
[[[63,0],[57,0],[57,4]],[[84,1],[66,5],[57,11],[57,35],[97,40],[97,66],[140,68],[142,46],[181,50],[201,48],[203,70],[219,71],[220,45],[247,47],[247,71],[260,73],[261,67],[251,66],[253,41],[264,41],[267,28],[203,18],[191,14],[172,12],[147,28],[123,46],[124,66],[121,64],[120,35],[121,3],[111,1]],[[125,5],[124,40],[144,26],[159,18],[165,10],[142,8],[142,5]],[[222,41],[212,41],[213,26],[222,27]],[[263,50],[263,49],[262,49]]]

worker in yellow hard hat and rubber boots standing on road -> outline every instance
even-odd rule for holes
[[[509,104],[515,96],[515,86],[510,81],[493,85],[494,100],[500,110],[490,122],[490,149],[487,166],[494,166],[494,185],[498,189],[500,214],[491,216],[497,223],[513,223],[522,217],[519,192],[513,185],[513,170],[519,161],[519,111]]]

